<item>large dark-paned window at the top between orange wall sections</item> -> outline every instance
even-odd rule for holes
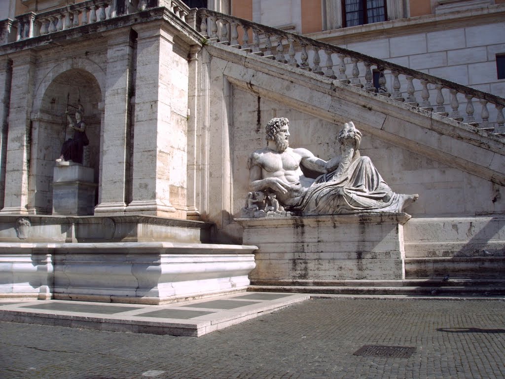
[[[386,21],[386,0],[342,0],[344,26]]]

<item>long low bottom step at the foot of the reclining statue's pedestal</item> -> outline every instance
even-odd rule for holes
[[[450,281],[449,281],[450,282]],[[438,282],[432,286],[249,286],[250,292],[310,293],[331,295],[403,295],[403,296],[505,296],[505,283],[496,286],[449,286]]]

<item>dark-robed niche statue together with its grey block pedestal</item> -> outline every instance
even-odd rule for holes
[[[53,214],[85,216],[92,215],[95,205],[93,168],[83,166],[84,147],[89,145],[86,124],[83,121],[84,108],[76,107],[75,121],[68,109],[65,111],[68,127],[74,133],[66,139],[56,160],[53,171]],[[67,128],[67,125],[65,125]]]

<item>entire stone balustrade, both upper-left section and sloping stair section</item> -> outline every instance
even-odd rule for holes
[[[167,8],[207,40],[505,135],[503,98],[266,25],[208,9],[190,10],[180,0],[87,0],[38,14],[30,12],[16,20],[0,21],[0,45],[158,7]],[[378,74],[375,83],[374,73]]]

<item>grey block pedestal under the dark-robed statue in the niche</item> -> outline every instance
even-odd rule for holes
[[[92,168],[78,164],[58,165],[53,171],[52,185],[54,215],[93,214],[96,184]]]

